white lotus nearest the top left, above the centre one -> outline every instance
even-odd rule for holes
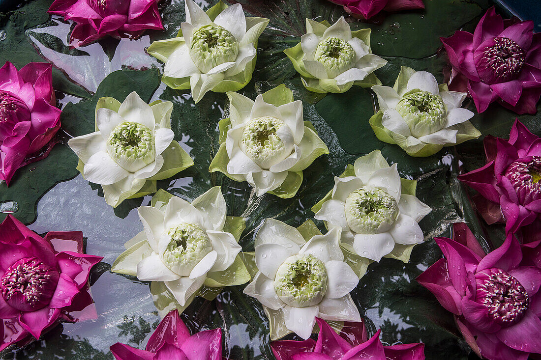
[[[240,4],[220,1],[204,12],[186,0],[186,22],[177,37],[155,41],[147,52],[165,63],[162,81],[173,89],[191,88],[197,103],[207,91],[238,91],[250,82],[268,22],[245,17]]]

